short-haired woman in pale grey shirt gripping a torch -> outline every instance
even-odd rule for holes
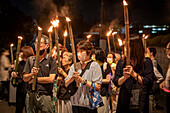
[[[102,72],[100,65],[96,62],[92,62],[91,60],[93,51],[93,45],[89,41],[80,41],[77,44],[77,56],[80,60],[80,62],[76,64],[78,71],[76,72],[74,65],[72,65],[68,73],[68,77],[65,79],[66,87],[74,80],[79,83],[77,92],[71,97],[73,113],[97,113],[97,109],[89,108],[89,90],[92,82],[95,83],[96,90],[100,90],[102,83]],[[91,64],[89,69],[86,69],[84,74],[80,76],[79,74],[81,74],[82,70],[90,62]]]

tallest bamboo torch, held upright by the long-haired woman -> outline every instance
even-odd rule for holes
[[[128,4],[125,0],[123,0],[124,4],[124,20],[125,20],[125,39],[126,39],[126,64],[130,64],[130,41],[129,41],[129,15],[128,15]]]

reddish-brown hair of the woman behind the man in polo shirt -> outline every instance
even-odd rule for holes
[[[23,52],[23,58],[26,58],[26,59],[30,56],[34,56],[34,51],[31,46],[22,47],[21,52]]]

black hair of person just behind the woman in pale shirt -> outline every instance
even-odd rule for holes
[[[96,47],[94,49],[94,54],[96,56],[95,59],[97,61],[100,61],[102,63],[104,63],[106,61],[106,54],[105,54],[105,52],[101,48]]]

